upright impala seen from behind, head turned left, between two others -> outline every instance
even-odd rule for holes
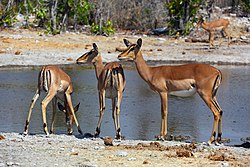
[[[93,43],[93,49],[81,57],[76,62],[87,63],[92,62],[95,67],[96,78],[98,80],[100,117],[97,124],[95,137],[100,134],[101,122],[105,110],[105,97],[112,99],[113,120],[116,130],[116,139],[121,139],[120,130],[120,104],[122,100],[122,92],[125,88],[125,76],[121,64],[116,62],[102,63],[102,56],[98,51],[98,47]],[[117,100],[117,103],[116,103]]]

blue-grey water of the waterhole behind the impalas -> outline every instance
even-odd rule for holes
[[[223,137],[231,144],[240,143],[241,137],[250,136],[250,68],[219,66],[223,73],[217,99],[223,115]],[[84,132],[95,131],[99,117],[97,81],[93,69],[64,68],[73,81],[73,104],[81,103],[77,112]],[[30,101],[35,94],[39,69],[0,71],[0,132],[23,132]],[[160,98],[134,70],[125,70],[126,89],[121,103],[121,132],[126,139],[154,139],[160,132]],[[31,115],[30,133],[43,133],[40,102],[41,95]],[[106,99],[106,110],[101,136],[115,136],[111,102]],[[51,121],[51,106],[47,119]],[[207,141],[211,135],[213,115],[196,94],[189,98],[170,97],[168,134],[187,135],[191,139]],[[75,127],[74,127],[75,128]],[[55,133],[66,134],[63,113],[57,112]],[[76,128],[75,133],[77,134]]]

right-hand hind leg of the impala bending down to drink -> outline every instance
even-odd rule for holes
[[[56,92],[49,93],[42,101],[42,116],[43,116],[43,130],[45,134],[48,136],[48,126],[47,126],[47,119],[46,119],[46,108],[49,102],[55,97]]]

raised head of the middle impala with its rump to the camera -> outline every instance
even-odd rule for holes
[[[100,54],[98,52],[98,47],[95,43],[93,43],[93,49],[91,49],[91,51],[84,53],[81,57],[79,57],[76,60],[76,63],[77,64],[95,63],[98,58],[100,58]]]

